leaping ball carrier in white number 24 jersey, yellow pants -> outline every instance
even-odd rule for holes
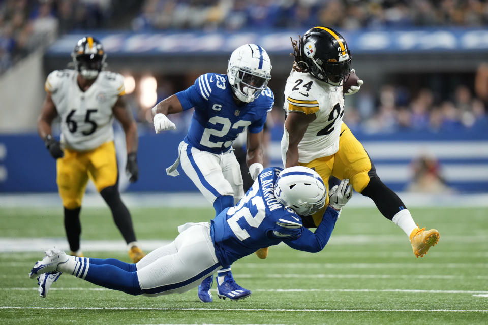
[[[295,62],[285,86],[287,112],[281,143],[283,164],[307,166],[325,183],[330,175],[350,180],[355,191],[371,198],[380,212],[398,225],[422,257],[439,240],[435,229],[420,229],[402,200],[376,174],[362,144],[343,122],[342,85],[351,72],[345,39],[332,28],[314,27],[292,41]],[[359,90],[362,81],[345,94]],[[310,219],[317,226],[323,211]],[[319,216],[320,214],[320,216]]]

